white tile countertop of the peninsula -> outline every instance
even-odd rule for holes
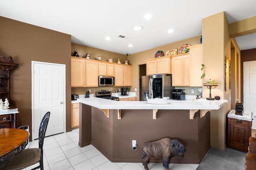
[[[101,98],[78,99],[78,102],[99,109],[209,109],[218,110],[228,103],[228,100],[169,100],[168,104],[148,104],[141,101],[114,101]]]

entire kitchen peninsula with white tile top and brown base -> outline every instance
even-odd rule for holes
[[[169,137],[186,147],[184,158],[175,156],[170,163],[191,164],[199,164],[210,148],[209,111],[228,103],[199,99],[148,104],[100,98],[78,102],[80,147],[92,144],[112,162],[141,162],[144,143]],[[132,140],[136,140],[138,150],[132,150]]]

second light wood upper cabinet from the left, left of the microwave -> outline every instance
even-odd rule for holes
[[[85,61],[85,86],[98,87],[99,62],[86,60]]]

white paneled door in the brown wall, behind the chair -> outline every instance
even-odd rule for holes
[[[32,139],[38,139],[42,117],[50,111],[46,136],[66,128],[65,65],[32,62]]]

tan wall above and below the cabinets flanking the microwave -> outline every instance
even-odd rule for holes
[[[86,53],[89,53],[90,59],[95,59],[95,60],[96,60],[96,57],[98,57],[98,56],[101,57],[102,61],[108,61],[108,59],[112,58],[113,63],[117,63],[117,60],[120,59],[120,62],[122,64],[124,64],[124,61],[127,60],[126,55],[71,43],[70,56],[73,56],[74,51],[78,52],[79,57],[83,57],[86,55]],[[104,89],[104,90],[110,90],[113,92],[113,90],[115,90],[115,89],[119,90],[119,88],[120,87],[90,87],[90,88],[80,87],[80,88],[71,88],[71,92],[72,92],[72,94],[86,94],[86,91],[88,91],[90,89],[91,90],[90,94],[94,94],[94,96],[95,96],[96,91],[100,91],[100,90]],[[130,92],[130,88],[128,88],[128,92]]]

